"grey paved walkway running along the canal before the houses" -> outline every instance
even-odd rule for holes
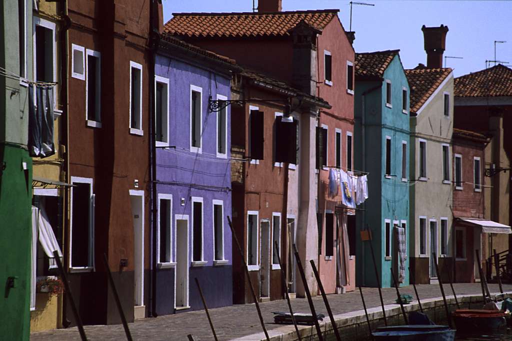
[[[478,294],[481,293],[479,283],[457,283],[454,284],[457,294]],[[420,299],[440,297],[439,285],[418,285]],[[504,285],[505,291],[512,291],[512,285]],[[444,286],[446,295],[451,295],[449,285]],[[376,288],[362,289],[368,308],[380,306],[378,290]],[[394,288],[382,289],[384,304],[393,304],[396,299]],[[490,292],[499,292],[497,284],[489,284]],[[400,288],[400,293],[414,296],[414,289],[411,286]],[[355,310],[361,310],[362,304],[359,291],[346,294],[328,295],[328,300],[333,314],[341,314]],[[321,296],[313,298],[317,313],[327,316],[327,311]],[[263,319],[267,329],[274,329],[282,325],[273,323],[272,311],[288,311],[285,300],[262,303]],[[306,299],[292,300],[294,312],[309,312],[309,305]],[[220,340],[260,333],[262,331],[258,313],[254,304],[234,305],[225,308],[210,309],[217,336]],[[206,314],[203,310],[192,311],[175,315],[159,316],[130,323],[130,331],[136,340],[186,340],[187,334],[193,334],[196,340],[212,340],[210,327]],[[122,325],[110,326],[86,326],[85,331],[90,340],[123,340],[126,339]],[[33,333],[31,340],[79,340],[78,329],[56,329],[47,332]]]

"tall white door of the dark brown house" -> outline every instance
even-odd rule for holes
[[[144,191],[130,191],[134,244],[134,305],[144,305]]]

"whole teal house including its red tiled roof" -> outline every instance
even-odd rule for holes
[[[356,285],[409,285],[409,84],[399,50],[356,53],[355,168],[368,172],[369,198],[356,212]]]

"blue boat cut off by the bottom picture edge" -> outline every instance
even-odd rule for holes
[[[455,330],[448,326],[406,325],[379,327],[372,335],[375,340],[387,341],[453,341]]]

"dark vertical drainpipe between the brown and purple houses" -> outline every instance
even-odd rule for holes
[[[155,99],[155,54],[156,48],[158,46],[158,40],[160,38],[160,34],[158,33],[158,27],[155,26],[155,13],[158,11],[157,0],[151,0],[150,3],[150,32],[149,32],[149,41],[148,41],[148,85],[149,85],[149,99],[148,99],[148,116],[150,121],[150,146],[149,146],[149,156],[150,156],[150,311],[149,315],[153,317],[157,317],[156,312],[156,269],[157,269],[157,255],[155,252],[155,248],[157,246],[157,191],[156,191],[156,142],[155,142],[155,121],[154,121],[154,99]]]

